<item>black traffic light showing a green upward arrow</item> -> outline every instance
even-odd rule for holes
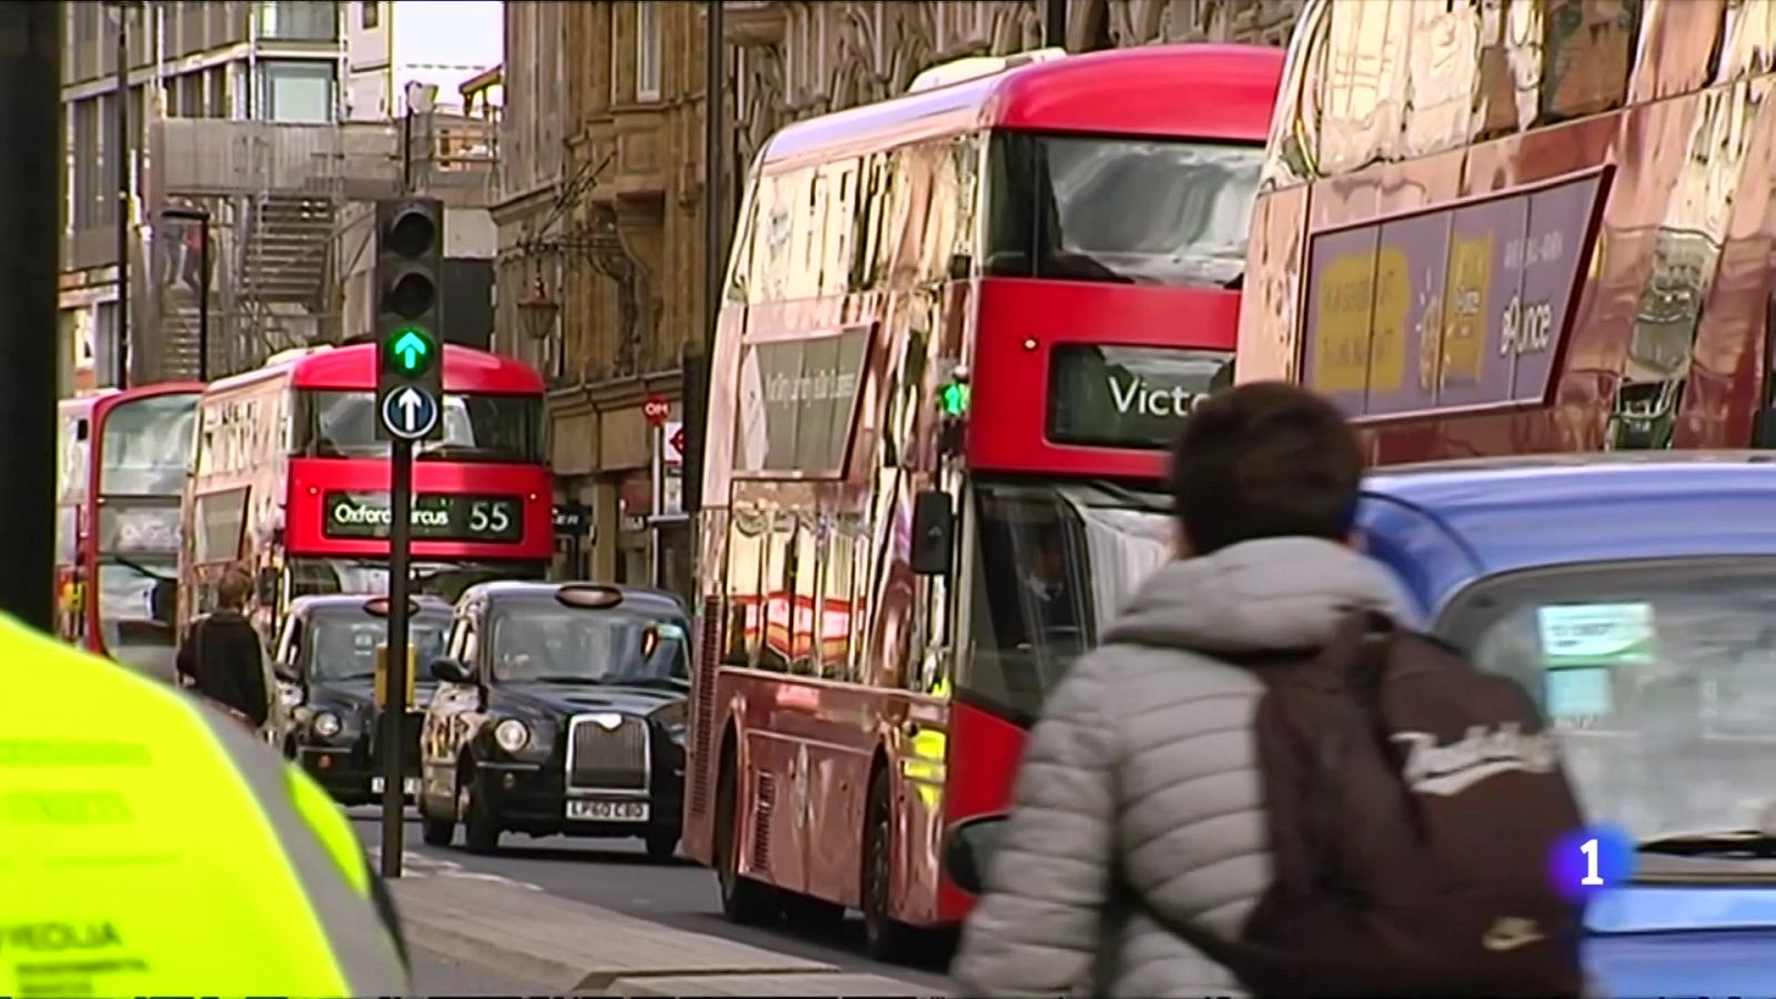
[[[433,197],[377,203],[377,430],[378,437],[440,436],[444,341],[439,338],[439,261],[444,206]]]

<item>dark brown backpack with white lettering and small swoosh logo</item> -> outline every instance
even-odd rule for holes
[[[1149,915],[1257,995],[1581,995],[1549,859],[1584,819],[1515,681],[1368,611],[1233,665],[1265,683],[1273,880],[1238,940]]]

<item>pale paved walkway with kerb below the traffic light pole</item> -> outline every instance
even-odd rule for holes
[[[931,995],[707,933],[673,930],[515,883],[392,882],[416,947],[472,960],[577,995]]]

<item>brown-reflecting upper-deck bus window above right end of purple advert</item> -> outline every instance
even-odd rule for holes
[[[1641,0],[1545,0],[1536,124],[1620,108],[1639,25]]]

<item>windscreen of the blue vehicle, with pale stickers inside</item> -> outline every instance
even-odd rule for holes
[[[1531,691],[1597,821],[1646,841],[1776,819],[1776,558],[1501,576],[1440,631]]]

